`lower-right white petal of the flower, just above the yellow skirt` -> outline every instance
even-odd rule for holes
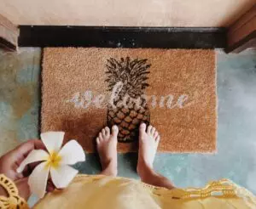
[[[56,188],[65,188],[78,174],[76,169],[67,165],[62,165],[58,168],[50,167],[50,176]]]

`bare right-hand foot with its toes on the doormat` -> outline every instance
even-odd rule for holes
[[[160,135],[155,127],[141,124],[139,131],[139,152],[137,161],[137,172],[142,177],[143,172],[153,170],[154,156],[160,141]]]

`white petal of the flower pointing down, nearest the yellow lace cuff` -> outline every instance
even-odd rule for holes
[[[49,166],[47,166],[47,163],[46,161],[40,163],[28,178],[28,185],[32,194],[38,195],[39,198],[44,197],[45,194],[49,176]]]

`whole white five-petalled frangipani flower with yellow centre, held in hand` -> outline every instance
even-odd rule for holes
[[[71,140],[61,148],[63,138],[64,132],[41,133],[41,139],[48,152],[32,150],[17,169],[17,172],[22,172],[27,164],[42,161],[28,178],[32,193],[40,198],[44,197],[49,173],[56,188],[65,188],[78,173],[68,165],[85,161],[84,150],[77,141]]]

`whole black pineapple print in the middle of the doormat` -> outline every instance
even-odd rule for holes
[[[149,123],[150,112],[145,89],[151,64],[148,59],[130,57],[107,59],[108,91],[115,93],[108,104],[108,126],[119,127],[119,142],[132,142],[138,135],[140,123]]]

